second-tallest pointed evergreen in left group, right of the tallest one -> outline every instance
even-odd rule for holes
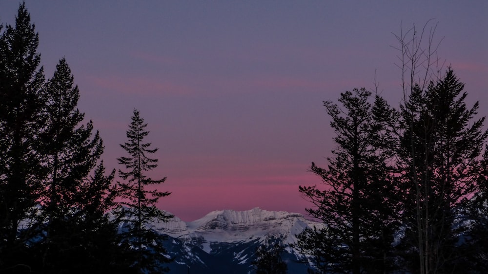
[[[93,123],[81,124],[80,92],[64,58],[46,85],[45,127],[40,156],[48,176],[43,181],[38,235],[32,246],[44,273],[129,272],[130,254],[121,244],[115,208],[115,170],[105,176],[103,152]],[[97,165],[98,164],[98,165]]]

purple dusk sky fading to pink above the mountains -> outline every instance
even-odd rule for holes
[[[488,1],[26,0],[46,78],[66,58],[107,169],[133,109],[159,150],[149,175],[185,221],[234,209],[305,214],[299,185],[336,146],[323,101],[375,89],[401,102],[393,34],[435,26],[438,56],[488,114]],[[15,23],[19,1],[0,0]],[[375,76],[376,75],[376,76]],[[117,180],[120,180],[117,178]]]

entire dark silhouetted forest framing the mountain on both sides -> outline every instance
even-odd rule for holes
[[[166,238],[147,224],[172,217],[156,207],[171,193],[148,176],[158,148],[139,110],[107,170],[67,61],[44,75],[25,4],[0,28],[0,273],[167,272]],[[325,225],[292,246],[308,273],[488,273],[488,130],[433,33],[396,36],[400,106],[366,88],[324,102],[336,147],[310,165],[322,183],[297,190]],[[286,273],[283,250],[260,246],[256,272]]]

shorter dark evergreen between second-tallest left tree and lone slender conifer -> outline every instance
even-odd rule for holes
[[[137,273],[131,254],[121,245],[118,221],[110,217],[117,192],[112,189],[115,170],[105,176],[103,163],[77,187],[72,211],[63,227],[56,227],[50,273]],[[62,240],[62,241],[60,241]]]

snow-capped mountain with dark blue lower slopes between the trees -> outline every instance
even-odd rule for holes
[[[168,235],[164,243],[173,263],[170,273],[251,274],[256,247],[267,235],[283,238],[289,273],[305,273],[306,266],[297,262],[290,243],[306,227],[321,226],[297,213],[266,211],[213,211],[201,219],[184,222],[178,217],[152,228]]]

